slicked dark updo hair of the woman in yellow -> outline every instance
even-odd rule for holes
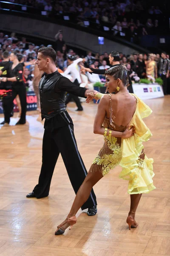
[[[119,78],[122,80],[122,84],[124,86],[128,86],[129,84],[127,69],[124,65],[111,67],[110,69],[106,70],[105,76],[106,75],[113,76],[115,80]]]

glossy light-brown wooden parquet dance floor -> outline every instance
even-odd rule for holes
[[[74,200],[62,158],[59,157],[47,198],[26,198],[37,184],[42,161],[43,123],[37,111],[27,112],[27,123],[0,127],[0,256],[168,256],[170,255],[170,96],[145,101],[153,114],[145,119],[153,133],[144,143],[154,159],[156,189],[142,195],[136,212],[139,227],[128,230],[130,196],[127,181],[116,167],[94,186],[96,216],[79,210],[77,224],[62,236],[57,225]],[[79,151],[87,169],[102,147],[93,134],[97,105],[83,103],[84,111],[68,106]],[[3,115],[0,115],[0,122]],[[64,135],[64,134],[63,134]],[[68,141],[69,143],[69,141]]]

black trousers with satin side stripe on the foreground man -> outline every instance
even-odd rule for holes
[[[34,188],[36,198],[48,196],[51,184],[51,178],[54,172],[59,153],[67,169],[69,179],[74,192],[77,193],[79,187],[84,181],[87,171],[77,148],[77,142],[74,137],[74,126],[71,117],[67,111],[60,113],[56,117],[57,126],[48,126],[45,128],[42,142],[42,167],[39,182]],[[97,205],[94,190],[91,190],[90,197],[82,206],[82,209]]]

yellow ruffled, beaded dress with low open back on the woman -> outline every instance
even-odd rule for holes
[[[128,139],[104,136],[104,145],[90,169],[90,172],[102,172],[104,176],[115,166],[120,165],[122,172],[119,178],[129,180],[127,192],[130,195],[148,193],[156,188],[152,180],[154,176],[153,159],[148,159],[145,154],[144,159],[139,157],[144,148],[142,143],[152,136],[142,119],[149,116],[152,110],[135,94],[131,94],[136,98],[136,111],[128,125],[135,127],[134,136]],[[110,118],[105,117],[103,126],[114,131],[123,132],[127,126],[119,126],[114,123],[111,94],[108,94],[108,97],[110,100]]]

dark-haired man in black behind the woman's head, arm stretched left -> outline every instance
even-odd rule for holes
[[[111,64],[111,67],[115,67],[115,66],[119,66],[119,65],[121,65],[120,64],[120,55],[119,55],[119,52],[117,52],[117,51],[112,51],[110,54],[109,54],[109,62],[110,62],[110,64]],[[99,75],[105,75],[105,72],[106,72],[106,70],[108,70],[108,69],[95,69],[95,68],[86,68],[86,67],[83,67],[83,66],[81,66],[80,65],[80,67],[81,67],[81,69],[82,70],[85,70],[86,72],[89,72],[89,73],[94,73],[94,74],[99,74]],[[111,68],[110,67],[110,68]],[[129,86],[128,86],[128,90],[129,90],[129,92],[130,93],[133,93],[133,88],[132,88],[132,83],[131,83],[131,79],[130,79],[130,76],[128,76],[128,79],[129,79]]]

